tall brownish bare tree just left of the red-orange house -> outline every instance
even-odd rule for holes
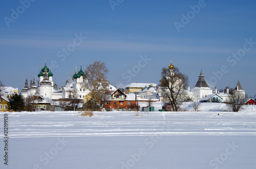
[[[93,110],[96,110],[97,105],[102,105],[103,101],[109,98],[109,83],[106,77],[108,73],[109,70],[105,63],[100,61],[95,61],[87,66],[88,78],[84,87],[91,92]]]

